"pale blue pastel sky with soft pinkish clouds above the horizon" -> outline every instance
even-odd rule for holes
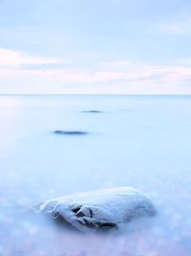
[[[191,94],[190,0],[1,0],[0,94]]]

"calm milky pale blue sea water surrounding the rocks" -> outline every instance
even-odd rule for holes
[[[0,96],[0,255],[191,255],[190,155],[191,97]],[[20,215],[112,186],[148,194],[158,217],[121,236],[85,237]]]

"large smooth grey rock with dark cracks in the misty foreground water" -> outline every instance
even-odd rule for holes
[[[130,187],[72,194],[32,207],[81,231],[120,228],[140,217],[152,217],[156,209],[143,193]]]

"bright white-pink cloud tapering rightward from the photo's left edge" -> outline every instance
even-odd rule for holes
[[[0,67],[18,67],[22,65],[54,64],[62,62],[59,58],[32,57],[20,52],[0,49]]]

